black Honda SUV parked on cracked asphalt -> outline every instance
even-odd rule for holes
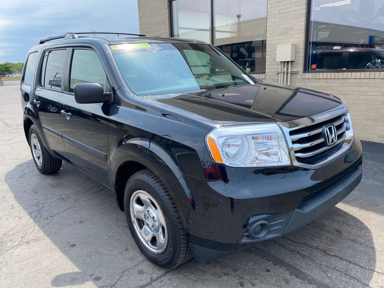
[[[25,136],[40,172],[66,161],[112,189],[153,263],[279,237],[359,184],[361,144],[339,98],[263,83],[200,41],[82,34],[28,53]]]

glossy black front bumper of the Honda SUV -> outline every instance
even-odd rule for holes
[[[203,262],[221,258],[257,241],[296,230],[323,215],[361,181],[361,154],[361,144],[355,138],[346,155],[322,169],[293,169],[271,174],[267,169],[254,170],[237,180],[233,178],[233,171],[227,169],[227,176],[231,177],[227,183],[186,179],[196,196],[196,208],[187,217],[194,257]],[[247,177],[253,180],[253,195],[258,197],[250,194]],[[237,189],[234,195],[240,199],[225,195],[231,190],[228,189],[231,180]],[[276,189],[283,193],[276,194]],[[250,233],[252,225],[260,221],[268,222],[268,233],[257,239],[250,237],[254,236]]]

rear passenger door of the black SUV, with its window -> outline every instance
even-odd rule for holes
[[[67,53],[68,48],[43,51],[37,70],[38,86],[32,99],[47,148],[60,157],[66,155],[61,138],[60,100],[64,90],[61,80],[65,71]]]

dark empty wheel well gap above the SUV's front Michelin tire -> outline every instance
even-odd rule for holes
[[[116,172],[115,190],[121,211],[124,211],[124,190],[129,177],[143,169],[147,169],[147,167],[136,161],[126,161],[119,166]]]

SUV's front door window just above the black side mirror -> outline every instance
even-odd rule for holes
[[[105,88],[105,72],[96,52],[85,49],[73,50],[70,92],[78,83],[99,83]],[[105,89],[104,89],[105,90]]]

